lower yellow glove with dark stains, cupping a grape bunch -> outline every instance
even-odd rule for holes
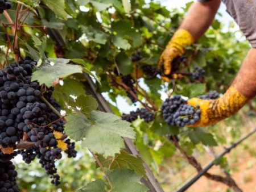
[[[236,114],[242,108],[247,99],[233,86],[230,86],[224,95],[214,100],[203,100],[192,98],[187,101],[188,105],[196,107],[199,105],[201,110],[200,119],[187,127],[206,127],[219,122]]]

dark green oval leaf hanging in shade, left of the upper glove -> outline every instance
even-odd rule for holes
[[[130,58],[125,54],[125,52],[118,53],[115,57],[115,62],[117,63],[119,72],[124,76],[133,72],[133,66],[131,66]]]

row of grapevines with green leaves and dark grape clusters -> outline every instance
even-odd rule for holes
[[[218,97],[249,50],[214,20],[174,61],[170,83],[162,82],[159,57],[191,4],[180,11],[144,0],[0,0],[0,191],[147,191],[139,182],[147,178],[144,162],[163,182],[167,171],[160,170],[170,162],[199,172],[195,151],[230,143],[218,125],[185,127],[199,109],[184,108],[193,118],[170,119],[163,104]],[[85,74],[114,114],[85,94]],[[120,112],[127,110],[119,97],[136,110]],[[127,153],[122,137],[141,156]],[[225,158],[217,164],[229,176]],[[205,176],[239,191],[226,182],[230,176]]]

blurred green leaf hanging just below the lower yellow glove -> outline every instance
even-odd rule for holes
[[[213,135],[208,133],[204,128],[189,129],[188,136],[194,144],[202,143],[203,145],[217,146]]]

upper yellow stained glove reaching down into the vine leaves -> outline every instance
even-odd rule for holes
[[[162,80],[167,82],[170,81],[170,78],[165,76],[168,76],[171,73],[172,61],[176,57],[184,55],[184,46],[191,45],[193,42],[193,36],[188,31],[179,29],[175,32],[172,39],[166,45],[166,49],[164,49],[158,62],[158,68],[163,69],[164,73]]]

